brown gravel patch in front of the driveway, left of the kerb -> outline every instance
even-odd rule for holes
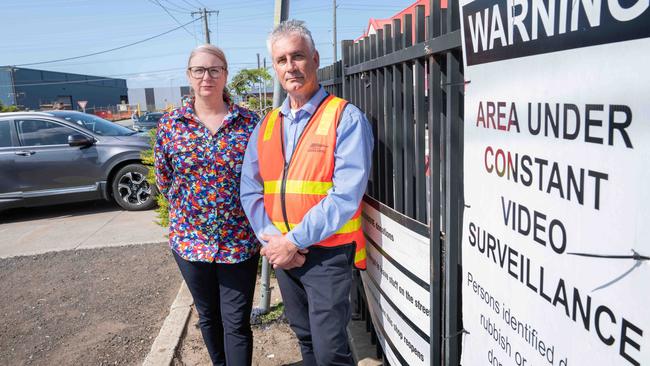
[[[180,283],[166,244],[0,259],[0,365],[141,364]]]

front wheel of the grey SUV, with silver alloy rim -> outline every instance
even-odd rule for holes
[[[147,181],[148,172],[142,164],[129,164],[115,174],[113,199],[123,209],[149,210],[156,204],[156,188]]]

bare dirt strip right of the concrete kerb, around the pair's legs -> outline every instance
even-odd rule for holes
[[[277,280],[271,278],[271,307],[274,308],[282,302]],[[259,304],[260,281],[257,281],[255,288],[255,302]],[[173,366],[199,366],[210,365],[210,356],[205,349],[201,330],[198,325],[199,318],[196,310],[192,309],[192,315],[187,323],[183,339],[176,351]],[[253,365],[277,366],[277,365],[302,365],[298,341],[289,328],[289,325],[282,319],[265,321],[263,324],[253,326]]]

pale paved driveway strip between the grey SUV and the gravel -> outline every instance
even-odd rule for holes
[[[167,241],[155,211],[123,211],[113,202],[0,212],[0,258],[50,251]]]

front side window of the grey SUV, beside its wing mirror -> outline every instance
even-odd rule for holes
[[[18,137],[23,146],[67,145],[68,136],[79,134],[72,128],[40,119],[18,120]]]

